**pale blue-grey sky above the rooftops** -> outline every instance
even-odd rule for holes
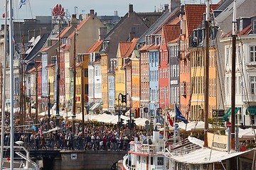
[[[4,13],[4,1],[0,0],[0,14]],[[9,0],[10,1],[10,0]],[[114,15],[114,11],[118,12],[119,16],[124,16],[128,11],[129,4],[133,4],[136,12],[158,11],[164,4],[169,4],[169,0],[26,0],[26,5],[18,9],[18,1],[14,2],[14,18],[21,20],[24,18],[35,18],[35,16],[50,16],[51,8],[56,4],[61,4],[70,15],[75,13],[75,8],[78,14],[89,13],[90,9],[94,9],[98,16]],[[29,1],[29,3],[28,3]],[[206,0],[181,0],[181,4],[198,4],[204,3]],[[217,3],[220,0],[210,0],[211,3]],[[1,23],[2,23],[1,17]]]

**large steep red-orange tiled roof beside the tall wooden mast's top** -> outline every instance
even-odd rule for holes
[[[210,8],[216,9],[219,5],[213,4],[210,5]],[[203,13],[206,12],[205,4],[186,4],[185,13],[186,13],[186,23],[188,25],[188,35],[193,33],[193,29],[197,28],[203,20]]]

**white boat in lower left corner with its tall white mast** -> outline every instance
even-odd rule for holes
[[[7,6],[9,7],[9,40],[12,40],[13,38],[13,18],[12,18],[12,1],[5,1],[5,13],[7,13]],[[7,17],[6,17],[7,18]],[[4,23],[4,36],[7,37],[7,19],[5,19]],[[5,39],[5,53],[6,53],[6,38]],[[7,54],[7,53],[6,53]],[[33,162],[29,157],[28,150],[23,147],[22,141],[17,141],[16,146],[14,146],[14,43],[11,41],[9,42],[9,58],[10,58],[10,146],[4,146],[4,117],[5,117],[5,103],[2,102],[2,113],[1,113],[1,157],[0,157],[0,169],[39,169],[37,164]],[[3,64],[3,89],[5,89],[6,86],[6,57],[4,57],[4,64]],[[3,90],[3,100],[5,101],[5,93]],[[22,151],[23,150],[23,151]],[[4,158],[4,152],[9,151],[10,157]],[[23,154],[23,152],[26,153],[26,155]],[[14,157],[14,153],[18,155],[17,157]]]

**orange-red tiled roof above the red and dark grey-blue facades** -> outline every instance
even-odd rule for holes
[[[180,36],[181,28],[179,25],[164,25],[163,31],[166,43],[168,43]]]

